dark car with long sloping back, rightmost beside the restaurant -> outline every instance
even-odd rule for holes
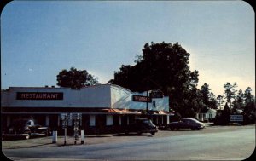
[[[200,130],[205,128],[206,125],[204,123],[201,123],[200,121],[194,119],[194,118],[182,118],[178,122],[172,122],[170,124],[166,124],[165,129],[192,129],[192,130]]]

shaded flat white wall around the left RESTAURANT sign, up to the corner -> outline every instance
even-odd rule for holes
[[[63,100],[16,100],[17,92],[62,92]],[[9,88],[1,92],[1,106],[19,107],[110,107],[110,85],[82,89],[69,88]]]

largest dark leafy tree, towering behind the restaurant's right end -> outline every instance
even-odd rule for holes
[[[189,70],[189,53],[180,44],[146,43],[135,62],[134,66],[122,65],[108,83],[138,92],[160,89],[182,117],[195,116],[201,105],[196,89],[199,74]]]

